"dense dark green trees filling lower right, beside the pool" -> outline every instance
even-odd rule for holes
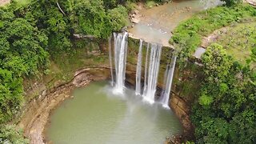
[[[198,143],[256,142],[256,71],[242,65],[218,44],[202,56],[203,82],[192,120]]]

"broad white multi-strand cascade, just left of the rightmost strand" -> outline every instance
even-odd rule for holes
[[[143,92],[143,99],[147,102],[154,103],[154,94],[157,90],[158,71],[160,66],[162,46],[158,44],[151,44],[150,62],[148,65],[148,72],[146,79],[146,87]],[[146,62],[147,63],[147,62]]]

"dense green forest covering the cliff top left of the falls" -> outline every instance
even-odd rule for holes
[[[53,74],[50,70],[54,61],[71,60],[81,47],[86,47],[86,54],[91,51],[84,42],[77,42],[74,34],[86,35],[99,43],[112,31],[126,26],[126,8],[118,1],[111,6],[107,2],[110,1],[14,0],[9,6],[0,7],[0,143],[24,143],[14,126],[3,126],[18,114],[24,102],[24,78]],[[82,64],[85,63],[90,63],[90,58]]]

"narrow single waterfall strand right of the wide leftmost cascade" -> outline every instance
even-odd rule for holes
[[[142,78],[142,45],[143,41],[140,39],[139,48],[138,48],[138,60],[137,60],[137,69],[136,69],[136,90],[135,94],[142,94],[141,90],[141,78]]]

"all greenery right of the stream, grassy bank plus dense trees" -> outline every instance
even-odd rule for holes
[[[201,86],[190,98],[197,143],[256,142],[255,14],[247,5],[217,7],[196,14],[174,30],[170,42],[179,48],[184,64],[202,37],[230,26],[215,41],[218,44],[206,48]]]

